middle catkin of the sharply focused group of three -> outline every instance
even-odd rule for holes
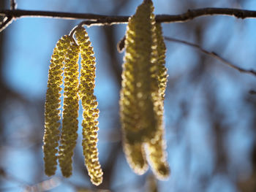
[[[59,146],[59,165],[64,177],[72,174],[72,156],[78,138],[78,58],[79,47],[72,39],[64,61],[64,104]]]

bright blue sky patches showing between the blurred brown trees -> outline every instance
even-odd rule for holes
[[[91,12],[108,15],[113,9],[112,3],[103,0],[86,1],[79,6],[79,1],[61,0],[17,0],[18,9],[39,9],[62,12]],[[111,1],[112,2],[112,1]],[[165,6],[173,4],[173,6]],[[255,1],[246,1],[244,4],[236,4],[235,1],[188,1],[197,2],[199,7],[234,7],[243,9],[255,9]],[[95,6],[97,4],[97,6]],[[155,12],[157,14],[178,14],[185,12],[187,7],[180,1],[160,0],[154,1]],[[121,8],[119,15],[132,15],[138,1],[130,1],[129,6]],[[104,9],[102,9],[104,7]],[[195,8],[195,7],[192,7]],[[121,12],[121,13],[120,13]],[[233,64],[242,66],[246,69],[255,69],[255,22],[256,20],[237,20],[231,17],[214,16],[212,18],[198,18],[191,22],[196,26],[199,22],[206,23],[203,31],[202,47],[207,50],[216,51],[218,54],[227,58]],[[48,66],[50,55],[57,40],[79,23],[78,20],[53,20],[48,18],[22,18],[15,20],[5,31],[6,39],[4,45],[4,69],[3,75],[6,84],[13,90],[20,93],[29,101],[41,101],[45,99],[47,88]],[[164,34],[168,37],[186,39],[189,42],[197,42],[197,37],[191,31],[187,31],[187,26],[183,23],[163,24]],[[115,26],[117,33],[116,42],[124,36],[126,25]],[[193,27],[192,27],[193,28]],[[103,45],[103,31],[100,27],[88,28],[89,37],[94,46],[97,58],[97,79],[95,94],[99,101],[99,160],[105,161],[106,153],[110,143],[106,135],[116,125],[116,115],[118,115],[118,85],[108,62],[110,56],[105,51]],[[229,156],[229,174],[243,175],[247,177],[251,171],[249,154],[255,135],[253,134],[252,119],[250,109],[244,103],[244,95],[250,89],[255,88],[255,77],[248,74],[241,74],[234,69],[228,68],[225,64],[215,61],[206,56],[207,82],[198,82],[197,85],[190,86],[189,75],[191,69],[197,66],[202,53],[197,50],[180,45],[174,42],[166,42],[167,45],[167,69],[169,82],[167,85],[165,101],[165,125],[167,138],[168,161],[172,169],[169,180],[159,182],[162,191],[202,191],[199,178],[202,175],[212,177],[208,183],[206,191],[236,191],[234,182],[236,178],[229,177],[227,174],[214,174],[216,157],[214,156],[214,137],[209,125],[209,120],[203,106],[206,104],[207,97],[204,93],[204,83],[208,83],[217,91],[217,103],[220,110],[228,114],[225,123],[232,126],[232,131],[225,134],[225,149]],[[225,48],[223,48],[225,47]],[[223,51],[222,51],[223,48]],[[120,54],[118,61],[122,63],[124,53]],[[178,82],[173,79],[179,78]],[[203,79],[204,80],[204,79]],[[178,118],[182,113],[181,101],[192,101],[189,115],[182,122]],[[12,139],[26,138],[26,133],[32,131],[34,120],[28,117],[26,107],[21,104],[13,104],[15,107],[7,109],[4,121],[7,125],[4,129],[10,134]],[[240,119],[240,120],[238,120]],[[80,119],[81,120],[81,119]],[[10,122],[10,123],[9,123]],[[176,123],[180,123],[182,130],[177,130]],[[42,126],[43,124],[39,124]],[[42,129],[41,129],[42,130]],[[79,129],[81,131],[81,129]],[[178,134],[181,134],[180,136]],[[39,133],[42,137],[42,132]],[[80,139],[78,143],[80,143]],[[21,141],[25,141],[23,139]],[[17,142],[17,141],[16,141]],[[1,166],[15,175],[15,178],[26,181],[26,183],[38,183],[34,175],[42,164],[42,158],[38,162],[34,153],[42,156],[42,151],[31,150],[30,147],[12,147],[10,143],[2,148],[6,152]],[[20,142],[22,143],[22,142]],[[78,146],[78,151],[81,147]],[[187,151],[190,151],[190,161],[187,160]],[[79,154],[81,155],[81,154]],[[115,172],[115,185],[125,183],[124,180],[132,182],[140,180],[136,176],[124,156],[118,158],[118,170]],[[31,169],[35,167],[35,169]],[[78,167],[79,169],[79,167]],[[86,168],[84,168],[86,169]],[[233,170],[235,169],[235,170]],[[58,171],[58,174],[60,172]],[[213,175],[213,176],[212,176]],[[128,178],[128,179],[127,179]],[[44,180],[48,177],[43,177]],[[79,172],[71,177],[70,181],[84,184],[83,177]],[[186,184],[185,181],[187,182]],[[88,181],[86,181],[88,183]],[[221,188],[219,186],[222,186]],[[6,183],[6,187],[12,187],[8,191],[20,191],[17,183]],[[67,183],[60,183],[59,187],[53,191],[74,191],[74,188]],[[129,190],[127,190],[129,191]]]

